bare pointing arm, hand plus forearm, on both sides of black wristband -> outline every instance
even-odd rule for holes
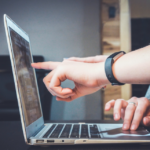
[[[83,63],[74,61],[34,63],[32,67],[52,69],[44,79],[47,89],[58,100],[71,101],[80,96],[91,94],[109,84],[105,62]],[[150,46],[130,52],[113,64],[113,74],[122,83],[150,84]],[[75,88],[62,88],[61,82],[74,81]],[[73,96],[71,94],[74,94]]]

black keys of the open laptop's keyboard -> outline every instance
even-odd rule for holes
[[[53,124],[43,138],[101,138],[97,125]]]

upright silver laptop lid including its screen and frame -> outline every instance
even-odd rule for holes
[[[44,124],[30,39],[6,14],[4,26],[25,141]]]

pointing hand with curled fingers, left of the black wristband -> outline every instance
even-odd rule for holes
[[[74,61],[33,63],[37,69],[51,71],[44,83],[57,100],[72,101],[78,97],[92,94],[109,83],[104,70],[104,63],[82,63]],[[75,83],[75,88],[62,88],[61,82],[66,79]]]

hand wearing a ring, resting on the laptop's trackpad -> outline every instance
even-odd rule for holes
[[[136,106],[129,102],[134,102]],[[114,108],[114,120],[124,120],[123,130],[136,130],[141,122],[150,126],[150,101],[145,97],[132,97],[128,101],[111,100],[106,103],[105,110],[109,111],[111,108]]]

